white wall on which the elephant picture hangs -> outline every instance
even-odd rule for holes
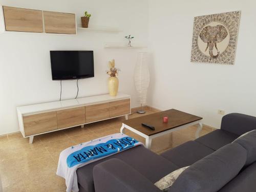
[[[204,118],[219,128],[221,115],[256,116],[254,0],[150,0],[149,41],[152,49],[148,103],[175,108]],[[195,16],[241,10],[236,61],[233,66],[191,63]]]

